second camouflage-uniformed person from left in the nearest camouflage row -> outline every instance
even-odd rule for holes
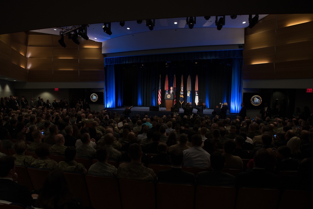
[[[46,143],[41,143],[36,147],[35,150],[38,159],[36,159],[30,166],[35,168],[44,168],[54,170],[57,168],[58,163],[54,160],[48,158],[50,155],[49,145]]]

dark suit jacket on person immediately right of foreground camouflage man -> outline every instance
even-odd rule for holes
[[[193,173],[183,171],[182,168],[172,167],[169,170],[159,171],[157,174],[157,180],[168,183],[194,184],[195,176]]]

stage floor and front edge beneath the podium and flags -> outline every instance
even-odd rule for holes
[[[117,114],[121,114],[123,115],[123,111],[125,110],[125,107],[118,107],[118,108],[106,108],[107,111],[111,111],[111,114],[113,114],[113,112],[116,112]],[[205,109],[203,110],[203,115],[208,115],[209,117],[211,117],[212,115],[212,111],[213,109]],[[193,109],[193,113],[196,115],[197,114],[197,110]],[[173,113],[171,111],[166,110],[165,107],[160,107],[159,111],[150,111],[149,107],[133,107],[131,108],[131,115],[130,118],[134,115],[139,114],[140,117],[144,117],[144,115],[148,115],[148,117],[153,117],[153,116],[158,116],[158,117],[162,117],[163,115],[173,115]],[[182,108],[179,108],[179,112],[177,112],[178,115],[180,115],[181,117],[184,116],[184,110]],[[231,120],[236,119],[236,116],[238,114],[232,114],[229,112],[229,110],[227,111],[227,117],[230,116]]]

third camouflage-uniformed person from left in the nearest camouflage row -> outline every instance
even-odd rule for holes
[[[69,146],[65,149],[65,161],[61,161],[58,164],[58,169],[62,171],[80,172],[87,173],[85,166],[75,161],[76,148]]]

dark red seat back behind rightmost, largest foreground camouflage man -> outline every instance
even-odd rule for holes
[[[150,181],[120,179],[123,209],[155,209],[155,186]]]

